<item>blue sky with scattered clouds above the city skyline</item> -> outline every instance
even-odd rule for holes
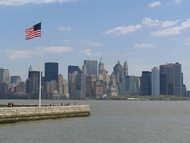
[[[190,0],[0,0],[0,67],[25,81],[30,65],[104,63],[109,74],[118,61],[141,76],[166,63],[182,64],[190,89]],[[42,22],[42,37],[25,40],[25,30]],[[44,71],[44,67],[42,68]]]

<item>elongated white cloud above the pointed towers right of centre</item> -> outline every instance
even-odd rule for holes
[[[125,35],[130,32],[134,32],[138,29],[141,29],[142,25],[130,25],[130,26],[119,26],[113,29],[108,29],[105,34],[113,34],[113,35]]]

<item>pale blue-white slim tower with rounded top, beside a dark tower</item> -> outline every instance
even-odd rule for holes
[[[160,70],[157,67],[152,69],[151,80],[152,95],[160,95]]]

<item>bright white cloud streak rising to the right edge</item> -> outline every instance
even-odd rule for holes
[[[155,32],[152,32],[151,35],[153,36],[167,36],[167,35],[177,35],[180,34],[181,31],[186,30],[190,28],[190,19],[187,19],[185,22],[181,23],[180,26],[164,29],[164,30],[158,30]]]

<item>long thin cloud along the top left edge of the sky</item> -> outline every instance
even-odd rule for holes
[[[66,2],[74,2],[78,0],[0,0],[0,5],[6,6],[18,6],[25,4],[42,4],[42,3],[66,3]]]

